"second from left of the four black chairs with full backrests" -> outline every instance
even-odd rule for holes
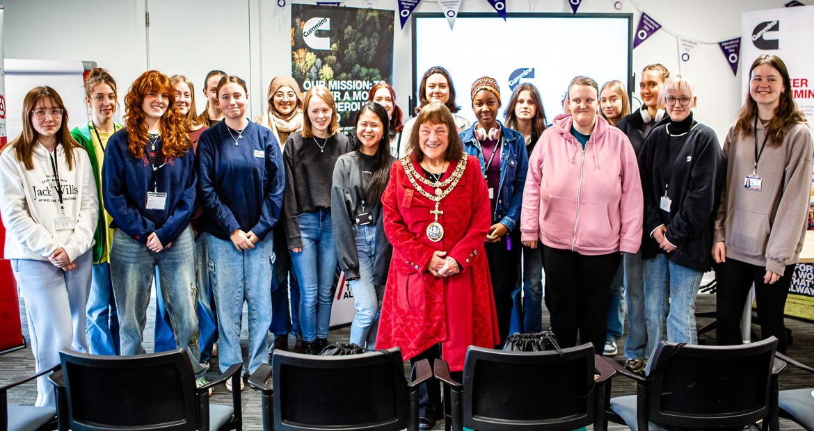
[[[432,377],[426,359],[409,384],[398,348],[348,356],[274,350],[271,362],[249,377],[262,393],[264,430],[418,431],[418,385]]]

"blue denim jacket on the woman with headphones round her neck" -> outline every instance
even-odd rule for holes
[[[500,121],[501,137],[504,139],[501,146],[501,182],[497,191],[497,203],[492,221],[500,220],[510,231],[520,220],[520,207],[523,205],[523,187],[526,185],[526,172],[528,171],[528,154],[526,141],[523,135],[506,128]],[[475,123],[472,127],[460,133],[463,147],[467,154],[474,155],[480,162],[480,171],[486,173],[486,159],[480,142],[475,139]]]

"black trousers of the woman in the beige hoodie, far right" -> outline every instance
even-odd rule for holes
[[[735,259],[726,259],[716,268],[717,284],[716,311],[718,322],[716,337],[719,346],[733,346],[743,342],[741,334],[741,317],[746,295],[755,283],[755,299],[758,304],[760,320],[760,337],[766,339],[777,337],[777,351],[786,354],[786,324],[783,311],[786,308],[786,297],[789,296],[791,275],[794,265],[786,266],[783,276],[773,285],[764,284],[766,267]]]

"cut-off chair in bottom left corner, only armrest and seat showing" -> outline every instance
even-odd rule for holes
[[[59,365],[0,386],[0,431],[46,431],[57,428],[55,407],[9,406],[7,392],[58,369]]]

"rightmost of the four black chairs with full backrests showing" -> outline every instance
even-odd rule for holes
[[[786,367],[774,360],[777,338],[742,346],[698,346],[661,342],[647,377],[606,362],[637,381],[637,394],[610,399],[607,420],[638,429],[744,426],[763,420],[778,429],[777,376]]]

